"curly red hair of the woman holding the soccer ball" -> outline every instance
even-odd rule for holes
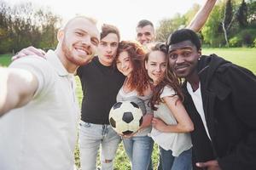
[[[145,49],[138,42],[119,42],[115,62],[118,59],[119,54],[122,52],[127,52],[133,67],[131,71],[131,78],[129,78],[127,84],[129,88],[135,89],[139,95],[143,95],[143,92],[148,88],[149,85],[149,79],[144,67],[144,58],[146,54]]]

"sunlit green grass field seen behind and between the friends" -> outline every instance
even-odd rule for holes
[[[256,74],[256,48],[204,48],[202,54],[218,54],[219,56],[224,57],[224,59],[230,60],[236,65],[241,65],[247,69],[253,71]],[[10,55],[0,55],[0,65],[7,66],[10,62]],[[76,77],[78,82],[77,94],[79,102],[83,97],[79,78]],[[81,103],[80,103],[81,104]],[[79,149],[77,147],[76,153],[76,164],[79,167]],[[158,152],[157,146],[154,145],[153,152],[153,165],[154,169],[157,167],[158,162]],[[119,145],[117,151],[117,156],[115,158],[114,168],[116,170],[126,170],[131,169],[127,156],[125,155],[125,150],[122,144]]]

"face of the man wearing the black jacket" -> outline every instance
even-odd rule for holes
[[[196,65],[201,57],[201,49],[197,50],[190,41],[172,44],[168,52],[169,64],[177,77],[189,79],[197,74]]]

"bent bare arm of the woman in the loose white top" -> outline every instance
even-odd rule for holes
[[[189,133],[194,130],[194,124],[191,121],[183,103],[175,96],[166,96],[162,98],[167,107],[172,111],[177,124],[167,125],[159,118],[153,118],[153,127],[164,133]]]

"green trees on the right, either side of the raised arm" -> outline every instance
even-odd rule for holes
[[[199,8],[195,4],[186,14],[160,20],[157,40],[166,41],[170,32],[189,25]],[[218,1],[200,35],[207,47],[256,47],[256,1]]]

